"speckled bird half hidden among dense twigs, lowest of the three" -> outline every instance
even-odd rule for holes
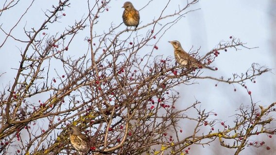
[[[90,148],[89,138],[82,134],[78,127],[74,125],[69,126],[70,142],[75,150],[77,150],[81,155],[84,155]]]

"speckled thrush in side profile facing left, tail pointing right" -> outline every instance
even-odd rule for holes
[[[186,66],[186,67],[199,67],[202,66],[204,68],[208,68],[210,70],[215,70],[211,67],[208,67],[201,62],[199,62],[197,59],[194,57],[190,56],[182,47],[179,41],[174,40],[174,41],[169,41],[173,45],[174,48],[174,57],[177,63],[179,63],[181,66]]]

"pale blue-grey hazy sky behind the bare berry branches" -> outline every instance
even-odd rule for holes
[[[2,0],[1,0],[2,1]],[[23,2],[24,1],[24,2]],[[0,16],[0,23],[3,23],[2,27],[7,30],[11,25],[17,21],[18,17],[24,11],[30,0],[21,0],[12,11],[7,11]],[[93,0],[91,0],[93,1]],[[131,0],[134,6],[139,10],[146,3],[147,0]],[[140,12],[141,24],[146,24],[153,20],[153,16],[158,15],[158,8],[164,6],[167,0],[155,0],[151,7],[145,8]],[[221,76],[231,77],[232,73],[244,73],[253,62],[257,62],[260,65],[265,65],[270,68],[274,68],[275,52],[272,45],[275,44],[271,39],[272,16],[270,12],[272,0],[201,0],[195,4],[192,8],[200,10],[194,11],[182,18],[177,24],[173,26],[173,31],[168,31],[158,43],[158,54],[164,56],[173,56],[173,47],[167,42],[171,40],[178,40],[181,42],[184,49],[193,49],[201,47],[201,55],[216,47],[216,45],[222,40],[228,40],[229,36],[233,35],[242,40],[242,42],[248,43],[248,47],[259,47],[254,49],[242,49],[235,51],[234,49],[228,49],[227,53],[221,54],[213,65],[217,66],[219,70],[217,72],[205,71],[205,75],[211,75],[216,78]],[[44,21],[43,11],[46,8],[52,6],[52,0],[36,1],[35,7],[30,10],[30,14],[24,17],[21,27],[14,31],[14,35],[17,37],[22,36],[22,26],[26,24],[28,28],[38,28],[41,22]],[[25,4],[24,4],[25,3]],[[97,25],[96,28],[101,30],[108,29],[110,22],[116,25],[121,24],[121,14],[123,9],[121,6],[124,1],[114,0],[110,5],[109,14],[100,16],[103,20]],[[173,0],[174,6],[178,4],[183,6],[186,0]],[[0,2],[2,5],[2,2]],[[61,23],[55,28],[56,30],[63,30],[62,28],[72,24],[74,20],[80,19],[87,12],[86,0],[72,1],[71,8],[64,11],[66,17],[61,20]],[[173,6],[173,5],[172,5]],[[22,9],[24,8],[24,9]],[[171,7],[172,12],[175,7]],[[156,14],[155,14],[156,12]],[[125,29],[123,26],[122,29]],[[50,31],[51,30],[51,31]],[[54,34],[55,31],[50,29],[46,33]],[[97,29],[95,29],[97,31]],[[83,37],[83,36],[82,36]],[[76,52],[85,51],[87,46],[82,46],[84,43],[84,37],[80,38],[79,46],[72,47],[75,53],[71,55],[77,55]],[[0,41],[3,40],[3,34],[0,32]],[[4,76],[0,77],[1,88],[3,89],[5,84],[12,83],[15,75],[15,71],[11,68],[18,68],[18,61],[20,53],[18,49],[24,49],[24,46],[14,43],[9,39],[4,47],[0,49],[0,74],[7,72]],[[247,82],[248,88],[251,90],[254,102],[258,102],[260,105],[269,105],[276,101],[275,95],[275,69],[272,73],[266,73],[256,79],[257,83],[253,84]],[[185,104],[191,104],[195,99],[202,102],[202,109],[213,110],[218,113],[218,118],[227,120],[228,116],[236,113],[235,109],[238,109],[241,104],[250,105],[250,98],[246,90],[239,85],[235,85],[237,92],[234,92],[233,85],[219,83],[218,87],[215,87],[216,82],[212,80],[198,80],[200,84],[186,86],[181,85],[178,89],[181,98],[178,101],[178,108],[185,107]],[[225,112],[226,111],[226,112]],[[231,119],[230,119],[231,120]],[[184,129],[189,130],[189,126],[183,126]],[[276,145],[274,145],[276,146]],[[198,146],[198,150],[192,148],[190,151],[192,155],[218,155],[215,147],[207,149]],[[201,152],[203,151],[204,152]],[[234,150],[223,149],[229,154],[233,154]],[[258,148],[261,150],[261,148]],[[265,150],[265,149],[264,149]],[[224,152],[223,151],[223,152]],[[272,148],[270,152],[275,152],[275,148]],[[247,155],[252,153],[252,149],[246,148],[241,155]],[[256,150],[254,152],[257,152]],[[226,153],[227,154],[227,153]],[[253,154],[251,154],[253,155]],[[256,154],[257,155],[257,154]]]

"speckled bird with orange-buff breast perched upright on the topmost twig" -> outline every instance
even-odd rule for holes
[[[135,29],[138,27],[140,21],[139,12],[134,8],[130,1],[126,1],[122,8],[124,8],[122,14],[123,23],[126,26],[135,26]]]

